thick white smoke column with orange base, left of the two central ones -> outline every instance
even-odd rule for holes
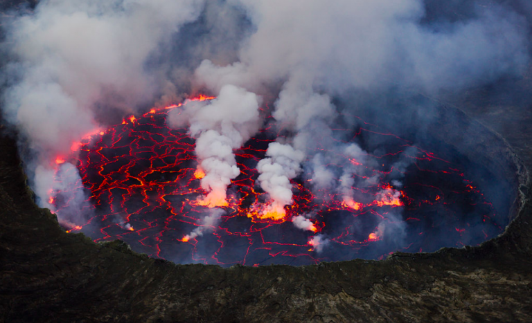
[[[211,102],[189,102],[183,111],[168,113],[170,127],[188,123],[190,136],[197,138],[195,151],[205,172],[202,188],[209,192],[204,205],[227,204],[227,186],[240,174],[233,151],[258,130],[258,104],[254,93],[226,85]]]

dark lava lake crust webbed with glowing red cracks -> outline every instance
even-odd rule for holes
[[[360,167],[353,178],[371,185],[350,187],[349,194],[313,194],[313,174],[307,172],[292,181],[292,205],[271,203],[256,183],[256,164],[278,136],[266,128],[236,151],[241,174],[229,185],[227,199],[207,200],[209,192],[199,186],[205,173],[197,167],[195,141],[187,129],[166,126],[168,111],[179,107],[151,109],[98,129],[73,145],[80,149],[77,162],[57,157],[57,165],[77,163],[82,183],[70,190],[85,187],[90,196],[85,221],[73,223],[68,232],[85,232],[94,241],[121,239],[136,252],[177,263],[256,266],[378,259],[396,250],[479,243],[502,231],[492,205],[459,165],[364,122],[356,129],[335,129],[333,136],[362,146],[368,138],[384,142],[367,150],[375,151],[366,154],[375,162],[364,165],[339,155],[343,161],[328,167],[337,174]],[[263,109],[263,115],[268,118],[269,111]],[[400,158],[410,161],[406,171],[393,168]],[[391,175],[397,172],[402,181],[394,186]],[[67,199],[71,195],[51,192],[49,202],[60,218],[73,203]],[[220,209],[217,217],[213,211]]]

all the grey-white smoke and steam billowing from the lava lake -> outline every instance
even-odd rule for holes
[[[338,194],[357,210],[369,202],[359,201],[355,188],[382,175],[367,171],[376,163],[373,151],[332,140],[339,119],[353,126],[340,118],[335,99],[360,91],[437,96],[520,75],[529,64],[526,17],[472,2],[461,19],[427,20],[422,0],[41,1],[6,24],[3,118],[32,149],[31,185],[39,205],[52,207],[51,192],[61,190],[54,176],[80,183],[69,163],[73,143],[126,114],[209,92],[214,100],[186,102],[167,122],[196,139],[196,174],[206,195],[195,202],[223,207],[240,174],[235,151],[265,124],[259,107],[269,98],[268,122],[282,136],[256,165],[257,185],[267,193],[264,205],[255,205],[259,217],[283,219],[298,176],[319,199]],[[351,161],[340,174],[337,158]],[[408,163],[389,175],[396,188]],[[371,203],[397,205],[396,188],[381,187]],[[64,196],[70,211],[58,214],[68,226],[85,223],[73,211],[85,203],[82,187],[72,194]],[[213,228],[222,211],[210,212],[187,240]],[[404,225],[396,215],[378,224],[373,239],[391,232],[400,240]],[[308,214],[291,221],[317,231]],[[317,252],[329,243],[321,234],[311,241]]]

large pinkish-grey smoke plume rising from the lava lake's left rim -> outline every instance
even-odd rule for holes
[[[179,26],[197,19],[202,5],[50,0],[15,19],[8,41],[16,61],[7,71],[17,81],[4,95],[3,113],[37,153],[28,167],[39,169],[30,178],[39,201],[53,188],[44,175],[51,160],[72,154],[72,143],[98,127],[101,109],[131,112],[152,100],[159,84],[145,63]]]

